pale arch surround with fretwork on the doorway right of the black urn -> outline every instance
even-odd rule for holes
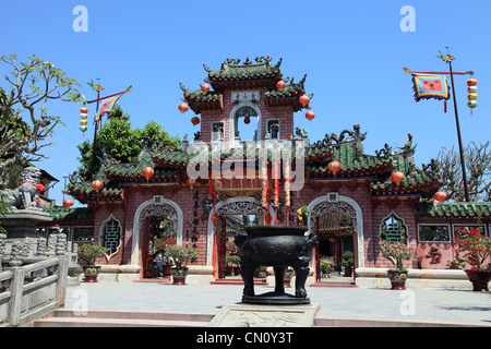
[[[351,197],[338,195],[337,193],[328,193],[313,200],[308,206],[312,213],[309,214],[309,230],[315,225],[315,218],[324,213],[345,213],[352,221],[355,234],[357,237],[357,260],[358,267],[364,266],[364,249],[363,249],[363,214],[360,205]]]

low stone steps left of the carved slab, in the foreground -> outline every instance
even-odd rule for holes
[[[206,327],[214,314],[91,310],[74,315],[56,310],[33,322],[32,327]]]

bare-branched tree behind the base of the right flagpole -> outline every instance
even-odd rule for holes
[[[484,144],[470,142],[464,149],[467,185],[471,201],[491,201],[491,149],[489,141]],[[460,155],[452,147],[445,147],[439,154],[442,190],[448,198],[465,201],[462,178]]]

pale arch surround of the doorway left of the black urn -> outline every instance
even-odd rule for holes
[[[167,216],[173,221],[173,229],[176,231],[176,241],[182,244],[182,209],[173,201],[156,195],[151,200],[143,202],[136,208],[133,218],[133,238],[131,244],[131,264],[139,264],[140,255],[140,232],[143,227],[145,218],[153,216]]]

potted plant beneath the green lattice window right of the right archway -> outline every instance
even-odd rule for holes
[[[395,269],[388,269],[387,276],[393,290],[405,290],[408,270],[403,267],[403,261],[416,260],[414,248],[409,248],[403,242],[391,242],[383,240],[379,242],[380,250],[384,257],[391,260]]]

